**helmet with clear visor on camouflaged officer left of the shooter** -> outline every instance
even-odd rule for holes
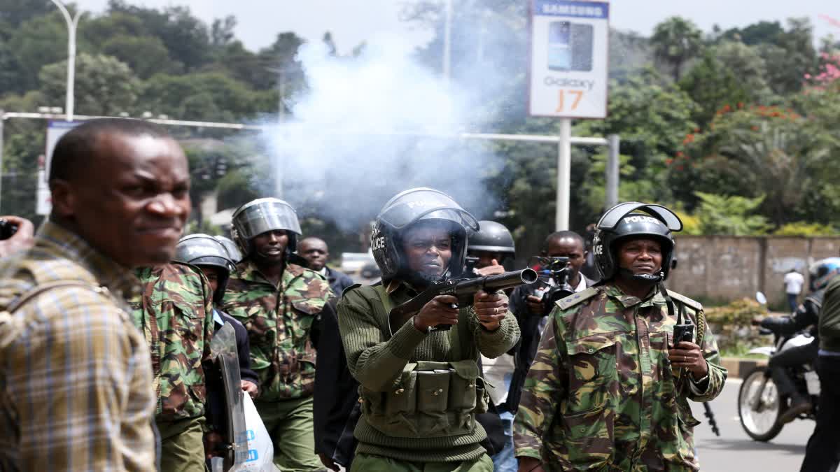
[[[286,231],[289,244],[286,256],[297,249],[297,236],[302,235],[301,223],[297,221],[297,212],[288,203],[279,198],[257,198],[236,209],[231,218],[231,235],[244,257],[254,252],[251,242],[256,236],[278,229]]]

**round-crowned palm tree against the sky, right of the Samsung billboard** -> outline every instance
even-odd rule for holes
[[[703,34],[690,19],[671,17],[656,25],[650,44],[656,59],[669,66],[674,81],[679,81],[682,66],[700,53]]]

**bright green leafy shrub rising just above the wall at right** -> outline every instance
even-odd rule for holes
[[[701,204],[695,216],[703,234],[747,236],[764,234],[769,229],[767,218],[752,214],[764,197],[747,198],[696,192]]]

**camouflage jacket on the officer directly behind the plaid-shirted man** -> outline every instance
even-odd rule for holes
[[[191,265],[141,268],[143,294],[129,302],[134,326],[144,334],[152,357],[157,393],[155,421],[204,415],[202,360],[213,338],[213,289]]]

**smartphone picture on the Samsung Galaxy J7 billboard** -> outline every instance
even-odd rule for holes
[[[591,24],[554,21],[549,24],[549,69],[552,71],[592,70]]]

